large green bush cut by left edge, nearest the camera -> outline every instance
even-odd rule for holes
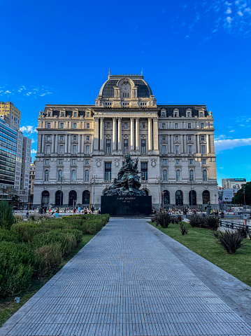
[[[27,288],[34,273],[35,257],[23,243],[0,242],[0,297]]]

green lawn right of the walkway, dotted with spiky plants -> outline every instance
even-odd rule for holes
[[[155,223],[150,223],[155,227]],[[251,241],[244,239],[245,246],[237,250],[235,255],[227,252],[216,242],[216,238],[208,229],[189,227],[188,234],[182,236],[179,224],[170,224],[167,229],[158,226],[157,229],[175,239],[182,245],[194,251],[206,260],[213,262],[227,273],[235,276],[247,285],[251,286]]]

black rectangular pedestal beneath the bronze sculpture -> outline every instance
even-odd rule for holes
[[[152,196],[101,196],[101,214],[114,216],[148,216],[152,213]]]

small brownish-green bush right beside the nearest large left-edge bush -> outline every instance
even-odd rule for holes
[[[60,244],[41,246],[36,249],[38,262],[38,276],[47,276],[62,262],[62,251]]]

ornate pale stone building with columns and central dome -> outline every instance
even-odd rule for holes
[[[142,75],[109,75],[95,105],[45,105],[38,116],[34,205],[100,206],[124,161],[159,206],[204,208],[217,195],[206,105],[157,105]]]

